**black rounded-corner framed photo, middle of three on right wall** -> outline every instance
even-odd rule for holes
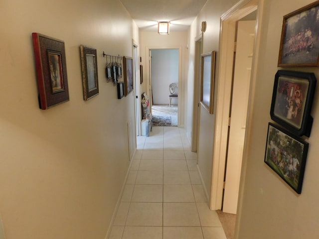
[[[277,71],[270,109],[271,119],[298,136],[309,137],[316,84],[314,73]]]

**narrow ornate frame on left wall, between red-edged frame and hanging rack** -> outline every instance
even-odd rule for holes
[[[96,49],[80,45],[83,98],[85,101],[99,94]]]

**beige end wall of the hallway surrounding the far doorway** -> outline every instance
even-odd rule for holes
[[[178,122],[179,125],[183,127],[186,119],[186,105],[185,99],[187,95],[185,92],[186,89],[186,76],[188,71],[188,49],[187,49],[187,32],[170,32],[169,35],[160,35],[157,32],[140,32],[140,53],[142,57],[143,65],[143,92],[147,92],[149,95],[150,87],[150,70],[149,70],[149,52],[147,49],[179,49],[180,56],[180,69],[179,69],[179,84],[180,88],[178,89]],[[144,70],[145,69],[145,70]]]

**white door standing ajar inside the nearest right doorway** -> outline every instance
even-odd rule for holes
[[[223,212],[236,214],[256,21],[239,21]]]

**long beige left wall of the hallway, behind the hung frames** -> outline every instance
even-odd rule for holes
[[[106,83],[102,52],[132,56],[137,27],[118,0],[0,5],[0,214],[6,239],[104,239],[129,167],[127,125],[135,119],[132,93],[118,100],[116,87]],[[37,102],[32,32],[65,42],[70,101],[46,111]],[[87,102],[80,44],[98,54],[100,94]]]

